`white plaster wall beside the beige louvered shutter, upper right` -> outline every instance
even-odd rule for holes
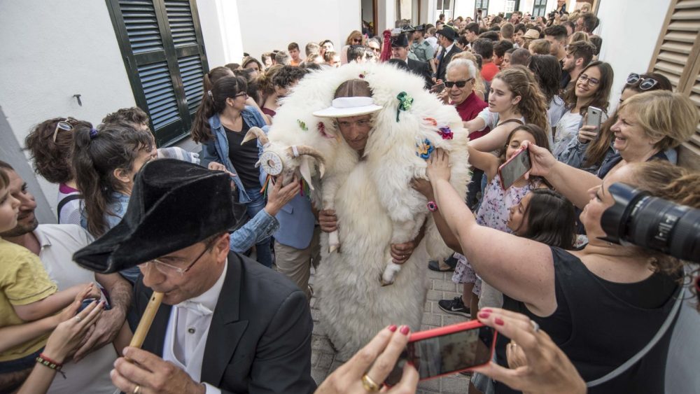
[[[599,57],[615,71],[611,111],[629,73],[647,71],[670,4],[671,0],[601,1],[601,23],[596,32],[603,38]]]

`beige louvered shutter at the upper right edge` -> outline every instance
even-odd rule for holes
[[[673,0],[649,66],[687,94],[700,111],[700,0]],[[678,163],[700,170],[700,125],[679,150]]]

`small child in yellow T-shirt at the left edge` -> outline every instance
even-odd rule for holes
[[[0,232],[12,230],[18,220],[20,202],[10,194],[9,184],[7,174],[0,171]],[[78,295],[97,299],[101,296],[92,283],[57,291],[38,256],[5,239],[0,239],[0,289],[0,328],[51,316],[71,304]],[[13,338],[14,342],[6,343],[8,338],[3,338],[0,371],[17,372],[33,366],[57,323],[40,330],[32,325],[31,332],[36,336],[22,337],[22,342]]]

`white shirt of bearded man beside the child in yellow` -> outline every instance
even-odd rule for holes
[[[80,283],[94,282],[94,272],[73,262],[73,253],[92,242],[92,236],[78,225],[39,225],[34,235],[41,245],[39,258],[48,276],[65,290]],[[109,377],[117,352],[112,344],[93,351],[76,364],[69,361],[63,365],[66,379],[56,374],[48,393],[106,393],[114,392]]]

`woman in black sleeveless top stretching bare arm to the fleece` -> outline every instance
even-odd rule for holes
[[[531,152],[533,174],[546,176],[542,166],[535,167],[538,154]],[[581,251],[550,248],[477,225],[449,184],[448,157],[441,150],[428,162],[428,177],[438,209],[477,274],[503,291],[506,308],[526,314],[547,331],[585,381],[605,377],[626,363],[657,335],[669,316],[673,322],[682,263],[636,246],[602,241],[601,217],[614,204],[609,190],[613,183],[687,203],[689,196],[700,193],[699,174],[689,175],[667,162],[634,163],[613,172],[587,191],[589,202],[580,220],[591,242]],[[700,207],[697,199],[692,203]],[[493,244],[500,247],[494,249]],[[589,393],[664,392],[671,332],[672,327],[663,332],[634,367],[589,387]],[[500,365],[505,365],[505,342],[500,339],[496,349]],[[496,384],[496,393],[509,392],[507,386]]]

